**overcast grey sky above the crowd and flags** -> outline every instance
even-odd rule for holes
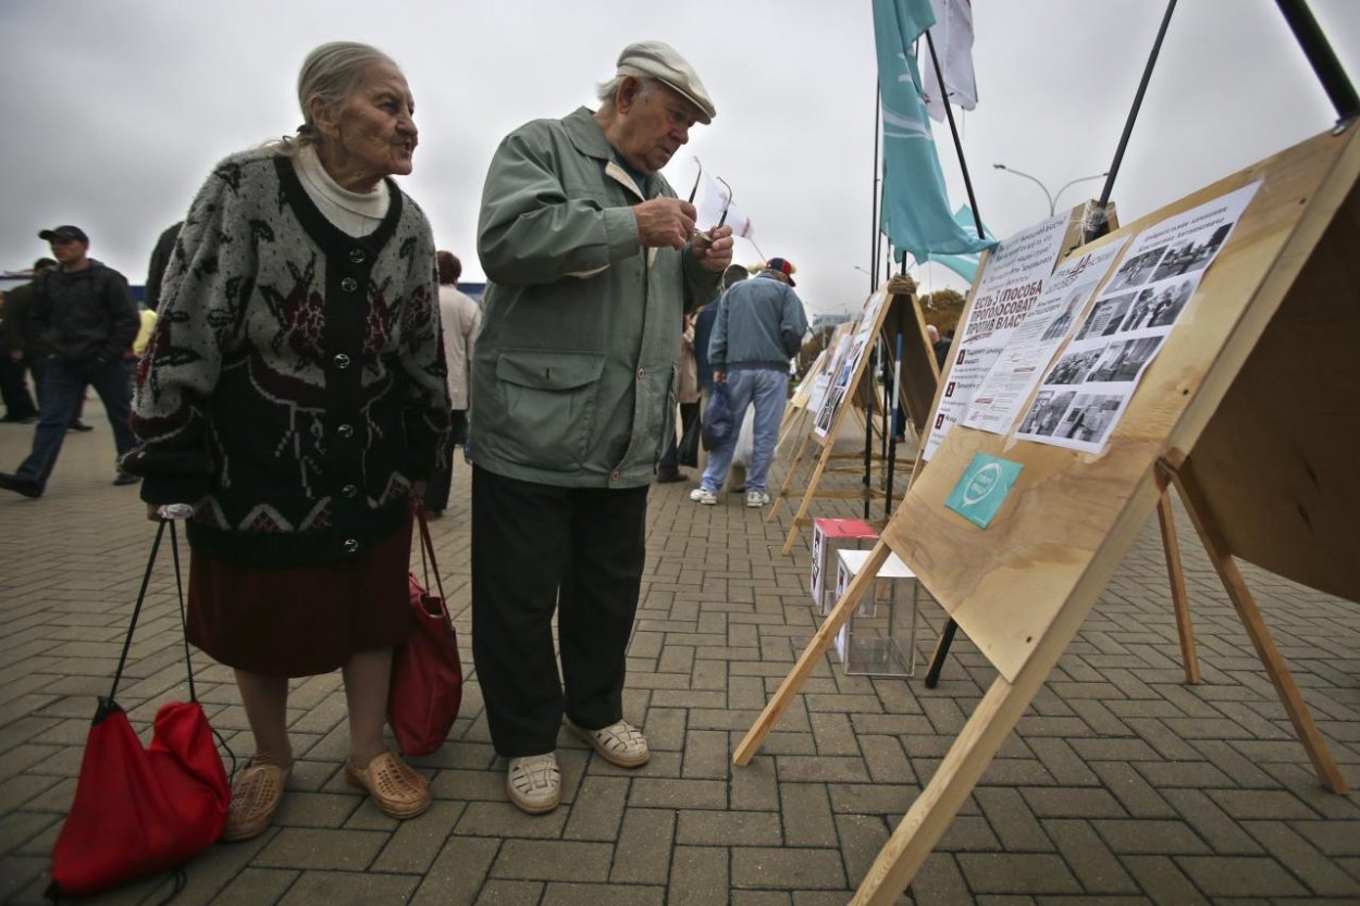
[[[1360,1],[1312,0],[1352,79]],[[1000,237],[1049,212],[1050,190],[1108,169],[1166,4],[974,0],[979,102],[963,118],[978,204]],[[626,12],[620,12],[626,11]],[[4,0],[0,3],[0,268],[46,254],[75,223],[91,256],[146,280],[156,235],[212,165],[291,132],[298,67],[332,39],[382,48],[416,97],[420,147],[403,188],[435,241],[480,280],[477,203],[500,137],[594,106],[631,41],[672,44],[718,116],[665,174],[680,195],[698,155],[733,188],[766,256],[798,268],[816,313],[869,291],[874,50],[868,0],[717,4],[560,0]],[[1180,0],[1112,199],[1129,222],[1331,127],[1334,113],[1273,0]],[[966,200],[948,127],[936,128],[951,205]],[[1081,182],[1059,208],[1100,192]],[[762,256],[737,241],[737,260]],[[942,268],[923,288],[963,282]]]

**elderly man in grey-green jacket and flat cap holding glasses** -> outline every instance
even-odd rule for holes
[[[506,790],[530,813],[560,801],[563,717],[613,765],[650,758],[623,720],[647,486],[685,299],[711,298],[732,261],[730,229],[695,234],[694,207],[660,174],[714,116],[690,64],[631,44],[598,98],[500,143],[477,224],[472,650]]]

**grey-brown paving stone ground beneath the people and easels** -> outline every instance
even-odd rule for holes
[[[0,901],[42,902],[95,695],[107,691],[154,526],[110,487],[109,426],[71,435],[41,501],[0,497]],[[12,469],[31,429],[0,426]],[[851,487],[849,476],[831,479]],[[276,827],[188,865],[190,903],[830,906],[849,901],[994,671],[960,637],[937,688],[821,662],[747,767],[732,751],[811,638],[805,544],[779,555],[732,495],[653,488],[626,716],[654,756],[612,767],[566,733],[564,803],[530,818],[503,793],[472,672],[468,469],[434,522],[468,676],[450,741],[415,759],[435,804],[398,824],[345,786],[339,675],[299,680],[299,762]],[[824,516],[858,516],[828,502]],[[1360,903],[1360,797],[1318,782],[1189,521],[1179,521],[1204,684],[1182,684],[1149,522],[1019,729],[900,898],[936,903]],[[1360,785],[1360,605],[1246,569],[1331,752]],[[162,573],[118,698],[146,732],[186,694]],[[929,654],[941,615],[923,611]],[[230,671],[196,658],[199,695],[238,756]],[[165,879],[91,898],[158,902]]]

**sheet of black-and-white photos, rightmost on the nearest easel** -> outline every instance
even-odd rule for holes
[[[1099,453],[1104,448],[1144,371],[1185,317],[1205,271],[1259,188],[1259,181],[1243,186],[1151,226],[1133,239],[1119,269],[1091,303],[1089,312],[1068,326],[1068,332],[1074,331],[1072,343],[1044,373],[1039,392],[1016,430],[1017,438],[1085,453]],[[1103,252],[1106,249],[1100,249]],[[1073,263],[1069,263],[1061,268],[1050,283],[1057,286],[1064,271],[1072,267]],[[1106,269],[1108,264],[1100,269],[1095,283]],[[1093,283],[1085,286],[1089,292]],[[1066,306],[1058,302],[1061,295],[1058,292],[1049,301],[1049,310],[1036,316],[1039,321],[1049,317],[1053,305]],[[1040,337],[1047,336],[1050,328],[1057,329],[1058,321],[1044,326]],[[1039,324],[1035,324],[1034,331],[1027,333],[1038,329]],[[1047,355],[1053,355],[1058,343],[1047,348]],[[1044,354],[1042,348],[1034,352],[1035,358],[1030,359],[1034,367],[1049,360],[1040,358]],[[1013,371],[1013,362],[1010,367]],[[1027,396],[1028,392],[1020,399]],[[996,418],[983,424],[987,416],[979,414],[976,427],[1005,433],[1013,424],[1015,412],[1010,412],[1010,420],[1005,415],[1006,409],[998,408]]]

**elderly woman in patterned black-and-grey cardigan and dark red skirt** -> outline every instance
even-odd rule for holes
[[[350,42],[307,56],[298,101],[298,133],[219,163],[189,209],[125,458],[148,517],[193,505],[189,641],[235,668],[254,735],[223,839],[279,807],[288,677],[337,667],[345,779],[393,818],[430,805],[382,740],[412,499],[449,426],[430,224],[386,178],[411,173],[415,105]]]

